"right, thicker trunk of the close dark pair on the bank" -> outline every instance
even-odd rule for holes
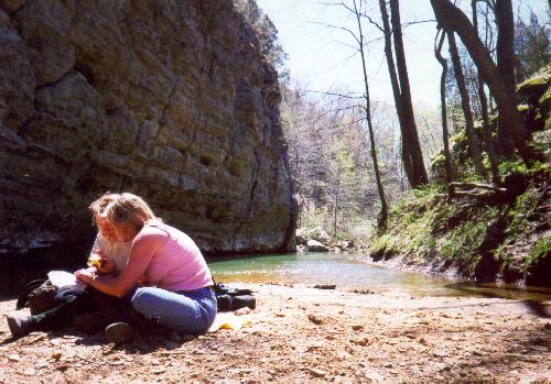
[[[392,24],[392,36],[395,37],[396,65],[398,68],[398,78],[400,80],[401,112],[406,128],[404,141],[408,141],[408,149],[413,166],[413,188],[429,182],[426,169],[424,168],[423,152],[419,142],[419,135],[413,114],[413,105],[411,103],[410,80],[408,67],[406,65],[406,53],[403,51],[402,25],[400,22],[400,7],[398,0],[390,0],[390,22]]]

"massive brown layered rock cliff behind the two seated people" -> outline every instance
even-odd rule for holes
[[[230,0],[0,0],[0,266],[84,256],[107,190],[207,254],[289,250],[279,102]]]

